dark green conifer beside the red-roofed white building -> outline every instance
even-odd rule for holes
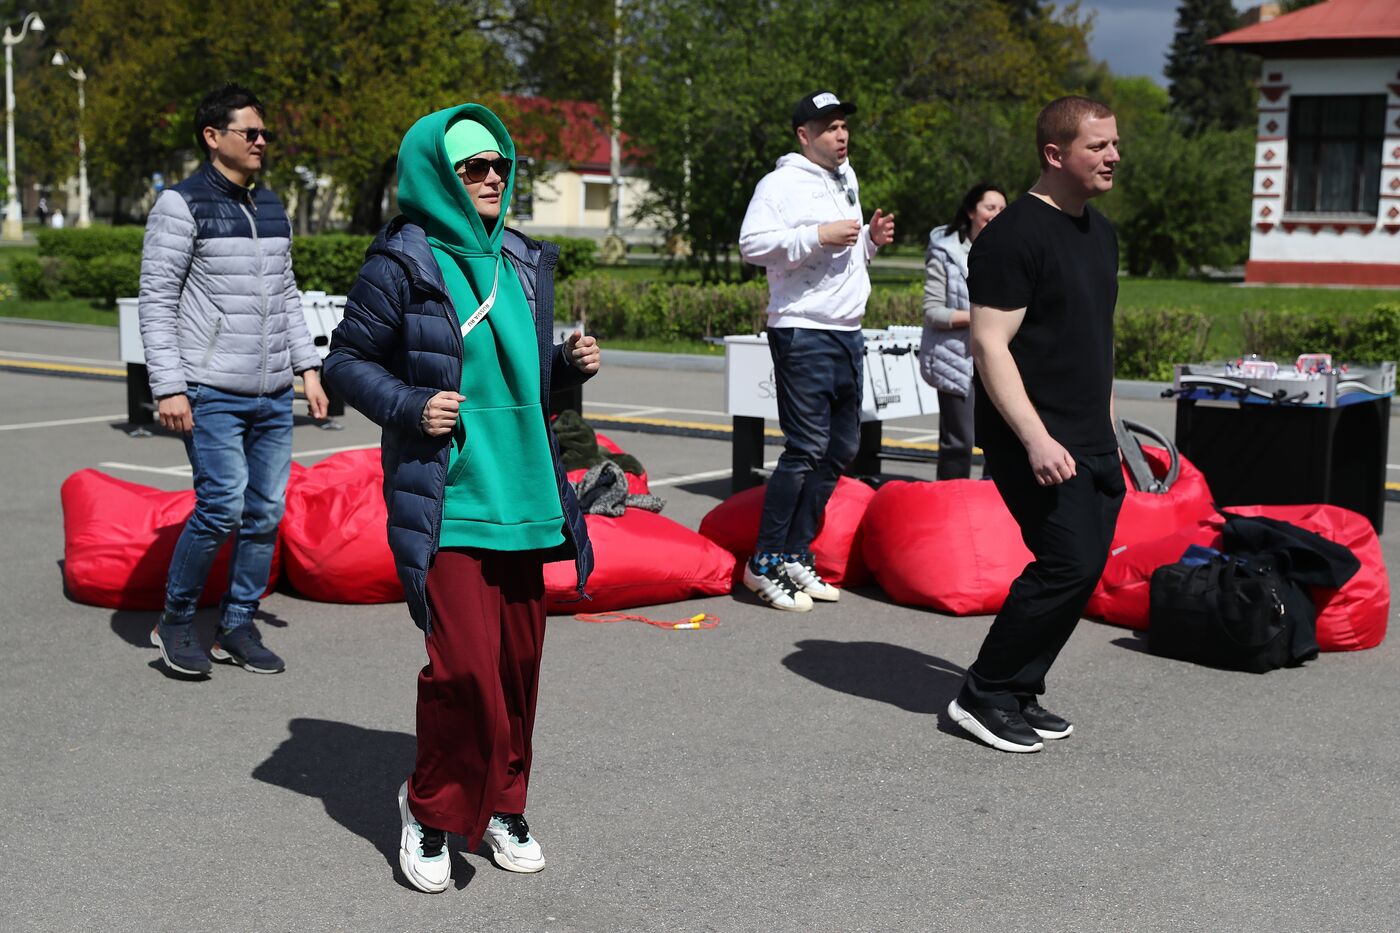
[[[1166,59],[1172,111],[1189,134],[1254,125],[1259,59],[1208,45],[1239,27],[1231,0],[1183,0]]]

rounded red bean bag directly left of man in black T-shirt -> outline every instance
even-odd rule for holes
[[[976,479],[885,483],[861,532],[892,600],[951,615],[1000,609],[1032,559],[997,488]]]

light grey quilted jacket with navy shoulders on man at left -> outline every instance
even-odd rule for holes
[[[161,192],[146,221],[140,318],[155,398],[192,382],[272,395],[321,366],[281,202],[209,163]]]

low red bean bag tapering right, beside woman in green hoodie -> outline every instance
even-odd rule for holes
[[[734,555],[685,525],[643,509],[619,518],[585,516],[594,545],[591,600],[578,600],[573,560],[545,565],[549,612],[606,612],[724,595],[732,587]]]

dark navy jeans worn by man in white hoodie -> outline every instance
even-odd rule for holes
[[[769,353],[787,445],[763,493],[757,549],[795,553],[811,551],[826,500],[861,445],[865,338],[769,328]]]

